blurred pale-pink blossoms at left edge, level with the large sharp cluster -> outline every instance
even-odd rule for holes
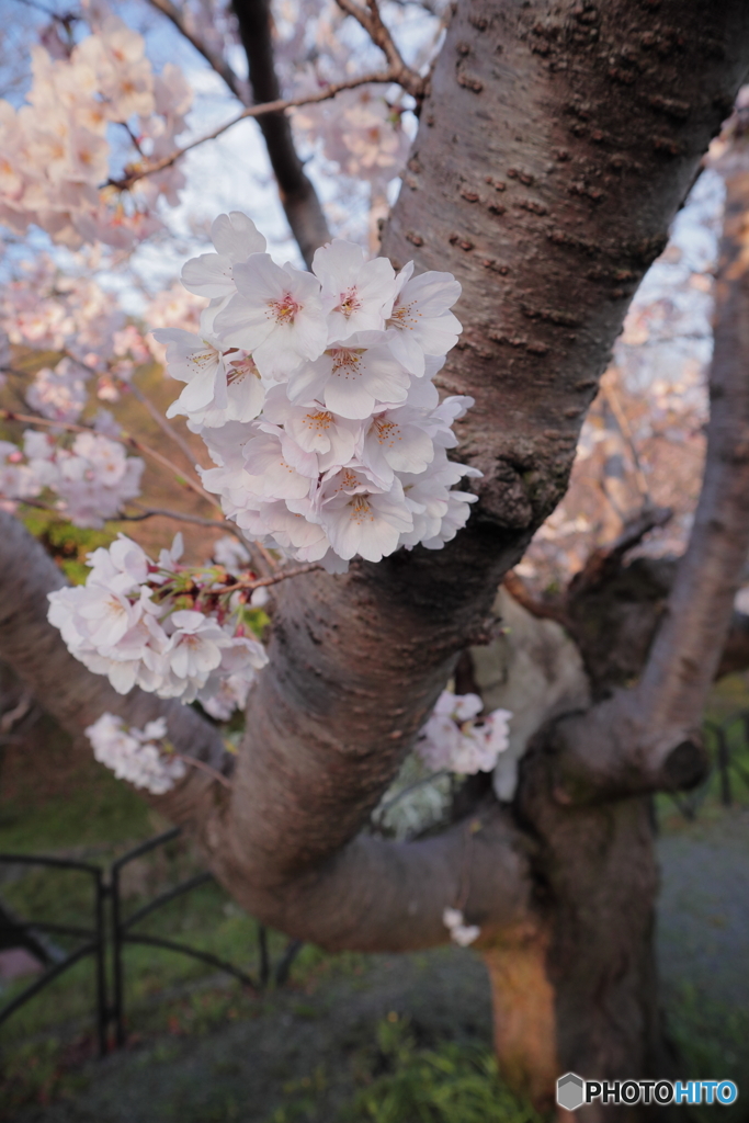
[[[80,268],[95,267],[91,255],[77,255]],[[0,326],[10,344],[57,351],[53,366],[38,371],[26,391],[28,404],[55,421],[77,421],[97,377],[97,396],[116,401],[118,382],[149,358],[137,328],[128,323],[116,296],[91,276],[62,275],[47,254],[3,286]],[[3,365],[10,365],[10,353]]]

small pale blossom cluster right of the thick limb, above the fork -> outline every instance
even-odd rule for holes
[[[477,694],[442,691],[423,725],[415,751],[435,772],[446,769],[464,776],[492,772],[509,745],[508,710],[494,710],[476,721],[484,707]]]

